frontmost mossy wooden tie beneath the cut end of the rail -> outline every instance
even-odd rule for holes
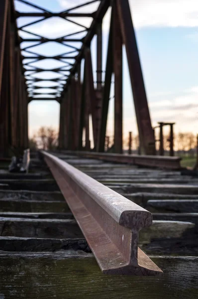
[[[0,294],[9,299],[198,298],[197,257],[151,257],[162,278],[103,275],[86,253],[3,253],[0,259]]]

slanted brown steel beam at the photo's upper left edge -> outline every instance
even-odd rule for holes
[[[1,0],[0,1],[0,91],[1,91],[1,84],[2,84],[2,76],[3,76],[5,35],[7,33],[6,31],[7,11],[8,11],[8,0]]]

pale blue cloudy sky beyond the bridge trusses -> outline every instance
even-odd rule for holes
[[[29,0],[30,1],[30,0]],[[82,0],[31,0],[52,11],[61,11]],[[19,1],[17,10],[33,11]],[[175,122],[175,132],[198,133],[198,1],[129,0],[142,65],[150,116],[157,122]],[[93,5],[94,8],[94,5]],[[86,7],[84,8],[86,11]],[[103,70],[105,69],[110,10],[103,20]],[[25,19],[23,20],[25,21]],[[27,21],[27,20],[26,20]],[[22,20],[18,20],[18,24]],[[45,21],[46,22],[46,21]],[[47,37],[64,35],[73,29],[59,18],[32,26]],[[89,25],[84,19],[83,24]],[[70,26],[70,28],[69,28]],[[22,45],[21,45],[22,46]],[[47,49],[53,49],[53,45]],[[46,48],[43,49],[46,51]],[[96,69],[96,38],[92,42],[93,66]],[[113,96],[113,86],[111,90]],[[56,101],[32,101],[29,111],[29,136],[40,126],[59,126]],[[137,134],[131,85],[123,46],[123,133]],[[107,135],[113,135],[113,99],[110,100]]]

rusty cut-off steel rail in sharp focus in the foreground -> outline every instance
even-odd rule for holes
[[[152,214],[58,157],[42,153],[101,271],[162,275],[138,248],[139,230],[152,224]]]

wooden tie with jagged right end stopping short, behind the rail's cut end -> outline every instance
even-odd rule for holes
[[[139,243],[150,243],[151,239],[179,238],[186,230],[194,228],[193,223],[179,221],[153,221],[152,226],[142,229]],[[0,217],[0,235],[39,238],[82,237],[75,220],[28,219]]]

